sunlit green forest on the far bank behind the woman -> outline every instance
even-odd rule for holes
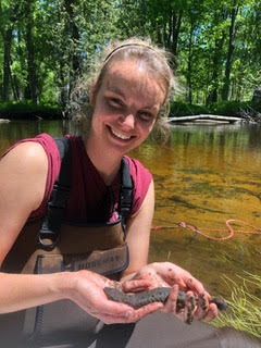
[[[183,86],[172,115],[261,111],[261,1],[0,0],[0,117],[65,115],[111,39],[150,37]]]

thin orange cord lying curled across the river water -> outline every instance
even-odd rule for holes
[[[237,224],[241,224],[244,226],[248,226],[248,227],[251,227],[253,228],[253,231],[240,231],[240,229],[236,229],[234,231],[234,228],[232,227],[232,223],[237,223]],[[173,228],[187,228],[187,229],[191,229],[195,234],[199,234],[200,236],[203,236],[208,239],[211,239],[211,240],[216,240],[216,241],[222,241],[222,240],[227,240],[229,238],[232,238],[235,234],[235,232],[237,233],[247,233],[247,234],[254,234],[254,235],[261,235],[261,227],[257,227],[257,226],[253,226],[245,221],[241,221],[241,220],[235,220],[235,219],[229,219],[226,221],[226,226],[227,226],[227,229],[228,229],[228,235],[225,236],[225,237],[213,237],[213,236],[209,236],[204,233],[202,233],[201,231],[199,231],[198,227],[194,226],[194,225],[190,225],[190,224],[187,224],[186,222],[179,222],[179,223],[176,223],[174,226],[152,226],[151,229],[153,231],[158,231],[158,229],[173,229]],[[202,228],[200,228],[202,229]],[[204,231],[215,231],[215,232],[223,232],[223,231],[226,231],[226,229],[214,229],[214,228],[203,228]]]

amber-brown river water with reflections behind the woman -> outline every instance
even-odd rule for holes
[[[71,127],[61,122],[0,124],[0,152],[17,139],[41,132],[60,136]],[[214,241],[176,225],[186,222],[215,237],[228,234],[229,219],[261,226],[260,133],[259,126],[175,126],[165,146],[148,141],[132,152],[154,177],[153,224],[169,226],[152,231],[150,261],[175,262],[223,296],[229,289],[222,275],[235,281],[244,271],[261,275],[261,235],[241,232],[251,227],[233,225],[233,238]]]

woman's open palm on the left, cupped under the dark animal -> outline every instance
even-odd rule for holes
[[[90,271],[70,274],[74,277],[70,299],[105,324],[136,322],[163,307],[162,303],[157,302],[135,310],[127,304],[111,301],[107,298],[103,288],[107,286],[114,287],[119,284],[117,282]],[[148,281],[139,279],[135,283],[136,287],[148,287]]]

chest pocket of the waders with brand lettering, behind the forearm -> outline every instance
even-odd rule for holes
[[[128,264],[126,245],[110,250],[96,250],[80,254],[38,254],[36,274],[89,270],[115,278]],[[26,311],[25,333],[30,340],[40,337],[91,337],[99,321],[70,300],[39,306]]]

